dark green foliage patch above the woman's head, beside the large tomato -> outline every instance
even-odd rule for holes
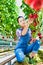
[[[32,8],[30,8],[30,6],[28,6],[27,4],[24,3],[24,0],[22,1],[21,8],[22,8],[23,12],[25,13],[26,19],[29,17],[29,14],[35,12]]]

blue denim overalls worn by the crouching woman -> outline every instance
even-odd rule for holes
[[[34,52],[37,53],[40,47],[40,40],[36,40],[35,42],[28,44],[30,42],[31,35],[29,33],[29,29],[27,33],[20,37],[16,47],[15,47],[15,55],[18,62],[23,62],[25,55]]]

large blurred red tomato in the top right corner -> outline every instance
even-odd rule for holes
[[[38,11],[43,8],[43,0],[24,0],[27,5],[30,5],[31,8]]]

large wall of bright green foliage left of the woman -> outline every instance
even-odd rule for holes
[[[0,0],[0,32],[3,35],[15,36],[18,27],[19,8],[15,0]]]

